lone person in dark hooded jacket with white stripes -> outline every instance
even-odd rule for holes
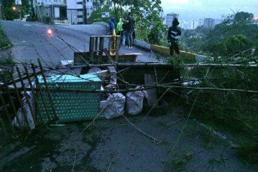
[[[176,54],[180,54],[179,52],[179,36],[181,36],[181,29],[179,27],[179,20],[174,18],[172,22],[172,26],[169,27],[169,31],[167,33],[167,42],[169,43],[170,56],[173,56],[174,50]]]

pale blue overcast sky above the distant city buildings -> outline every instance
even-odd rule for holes
[[[258,0],[161,0],[164,15],[179,13],[179,20],[220,19],[237,11],[258,15]]]

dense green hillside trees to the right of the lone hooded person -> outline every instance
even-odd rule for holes
[[[258,26],[252,24],[252,18],[252,13],[239,12],[225,18],[214,29],[199,26],[184,31],[181,40],[190,51],[234,56],[258,45]]]

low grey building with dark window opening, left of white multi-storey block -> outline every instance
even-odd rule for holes
[[[33,8],[41,22],[68,22],[66,0],[34,0]]]

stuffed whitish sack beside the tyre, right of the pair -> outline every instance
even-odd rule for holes
[[[141,87],[136,87],[136,89],[139,88]],[[146,97],[146,91],[135,91],[126,93],[126,110],[128,115],[135,116],[142,112],[144,97]]]

